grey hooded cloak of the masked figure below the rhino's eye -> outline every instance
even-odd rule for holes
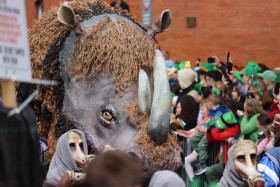
[[[64,133],[57,142],[56,151],[52,158],[50,168],[43,184],[43,187],[57,186],[60,179],[67,170],[79,172],[78,166],[73,158],[72,151],[69,146],[69,133],[78,133],[83,140],[84,154],[88,155],[88,148],[85,135],[82,131],[73,129]]]

